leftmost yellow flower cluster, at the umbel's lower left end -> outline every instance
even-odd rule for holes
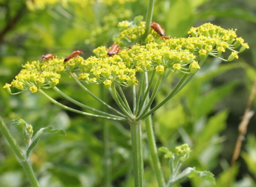
[[[30,90],[35,93],[41,87],[54,87],[59,83],[61,77],[59,73],[65,69],[63,61],[64,59],[53,58],[43,62],[27,62],[11,84],[6,83],[4,88],[11,92],[10,87],[12,86],[19,90]]]

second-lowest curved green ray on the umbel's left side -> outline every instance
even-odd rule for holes
[[[121,116],[116,116],[116,115],[113,115],[113,114],[109,114],[109,113],[107,113],[107,112],[102,112],[101,110],[97,110],[97,109],[91,108],[90,106],[84,105],[84,104],[82,104],[82,103],[80,103],[80,102],[74,100],[73,98],[67,96],[66,94],[64,94],[64,93],[63,93],[62,91],[60,91],[60,89],[58,89],[56,86],[53,87],[53,90],[55,90],[57,93],[59,93],[59,94],[60,94],[62,97],[64,97],[66,100],[68,100],[68,101],[70,101],[70,102],[72,102],[72,103],[74,103],[74,104],[76,104],[76,105],[78,105],[78,106],[80,106],[80,107],[82,107],[82,108],[86,108],[86,109],[91,110],[91,111],[93,111],[93,112],[97,112],[97,113],[99,113],[99,114],[102,114],[102,115],[105,115],[105,116],[109,116],[109,117],[119,117],[119,118],[123,118],[123,117],[121,117]],[[123,118],[123,119],[125,119],[125,118]]]

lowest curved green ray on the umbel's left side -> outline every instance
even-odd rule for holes
[[[80,110],[76,110],[73,108],[70,108],[68,106],[65,106],[61,103],[59,103],[58,101],[54,100],[52,97],[48,96],[44,91],[42,91],[41,89],[38,90],[41,94],[43,94],[46,98],[48,98],[49,101],[51,101],[53,104],[59,106],[60,108],[63,108],[65,110],[69,110],[71,112],[75,112],[78,114],[82,114],[84,116],[93,116],[93,117],[99,117],[99,118],[104,118],[104,119],[109,119],[109,120],[117,120],[117,121],[128,121],[127,119],[123,119],[123,118],[117,118],[117,117],[109,117],[109,116],[102,116],[102,115],[98,115],[98,114],[92,114],[92,113],[88,113],[88,112],[82,112]]]

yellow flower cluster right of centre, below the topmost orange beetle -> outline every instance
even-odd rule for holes
[[[189,73],[189,69],[185,67],[196,58],[189,51],[173,50],[154,42],[146,46],[134,45],[131,49],[125,48],[118,55],[128,67],[136,71],[144,72],[155,69],[159,74],[163,74],[165,69]]]

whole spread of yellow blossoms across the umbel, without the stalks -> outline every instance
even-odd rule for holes
[[[163,75],[166,70],[196,73],[200,69],[198,61],[207,55],[220,58],[221,53],[228,49],[231,54],[227,60],[223,60],[232,61],[238,58],[239,52],[249,48],[242,38],[237,38],[235,30],[225,30],[210,23],[192,27],[189,34],[194,36],[188,38],[162,39],[156,43],[154,36],[150,34],[147,40],[152,42],[146,45],[136,44],[134,42],[138,42],[145,31],[141,19],[142,16],[138,16],[133,22],[123,21],[118,24],[123,31],[116,43],[126,42],[126,46],[112,57],[107,54],[108,49],[101,46],[93,51],[95,56],[87,59],[77,56],[67,63],[58,58],[26,63],[15,80],[4,88],[10,92],[10,87],[13,86],[35,93],[39,88],[50,88],[58,84],[61,72],[76,72],[81,81],[103,83],[107,88],[113,82],[128,87],[138,85],[138,73],[152,70],[159,75]],[[236,51],[239,46],[240,51]]]

